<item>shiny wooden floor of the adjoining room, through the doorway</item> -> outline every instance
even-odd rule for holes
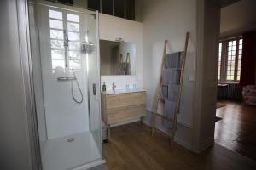
[[[220,100],[217,109],[215,142],[256,161],[256,107],[237,101]]]

